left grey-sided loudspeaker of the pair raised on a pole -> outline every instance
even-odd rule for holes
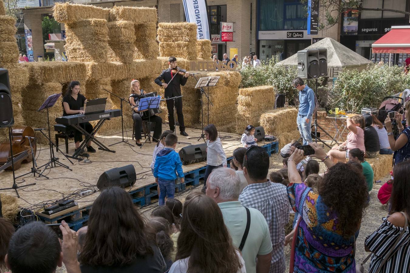
[[[316,79],[319,77],[319,50],[298,51],[298,77]]]

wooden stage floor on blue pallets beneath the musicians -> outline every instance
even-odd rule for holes
[[[163,124],[162,130],[168,129],[168,125]],[[200,129],[188,128],[187,133],[190,137],[200,136]],[[37,133],[37,132],[36,132]],[[129,141],[135,144],[135,141],[131,139],[132,132],[127,131],[124,133],[125,136],[129,137]],[[220,132],[219,135],[222,138],[223,149],[228,158],[232,157],[232,152],[241,147],[240,135],[232,133]],[[54,141],[54,132],[52,132],[52,140]],[[113,135],[99,136],[100,142],[103,142],[105,146],[121,141],[121,132]],[[144,140],[144,139],[143,139]],[[191,144],[203,143],[203,140],[188,139],[178,133],[178,140],[181,142],[189,142]],[[156,143],[146,143],[142,149],[137,146],[130,147],[125,143],[116,144],[109,148],[116,151],[116,153],[110,153],[107,151],[97,150],[96,153],[90,153],[90,163],[78,162],[72,160],[74,165],[71,165],[62,153],[55,152],[55,156],[59,158],[60,162],[68,165],[73,171],[70,171],[64,167],[55,167],[52,169],[47,169],[43,174],[49,177],[38,178],[33,175],[28,174],[26,177],[18,178],[16,183],[19,186],[27,185],[30,183],[36,183],[29,187],[23,187],[18,189],[18,193],[21,198],[18,199],[18,205],[22,208],[26,208],[23,214],[35,214],[36,212],[41,212],[44,205],[54,203],[60,199],[75,199],[78,202],[79,208],[60,215],[59,217],[54,217],[52,219],[47,219],[38,216],[41,220],[47,223],[57,223],[62,219],[69,222],[69,225],[77,230],[82,227],[83,223],[88,219],[88,213],[91,208],[93,201],[99,195],[99,191],[95,186],[98,178],[104,171],[115,167],[122,167],[124,165],[132,164],[135,167],[137,174],[137,181],[132,187],[128,187],[127,190],[133,198],[134,203],[140,206],[148,205],[151,198],[157,196],[157,185],[155,184],[155,179],[151,173],[151,162],[153,149]],[[260,142],[260,146],[264,146],[266,151],[271,153],[278,152],[277,142]],[[187,145],[177,144],[176,151],[179,151],[182,147]],[[74,143],[69,143],[68,154],[73,154]],[[93,145],[96,148],[96,145]],[[60,141],[59,148],[65,152],[64,141]],[[50,149],[45,145],[38,146],[37,150],[37,165],[41,166],[45,164],[50,158]],[[183,191],[185,187],[192,185],[198,185],[200,178],[203,178],[205,173],[206,162],[198,162],[190,165],[182,166],[184,173],[186,175],[186,181],[184,184],[176,185],[176,191]],[[22,164],[21,168],[16,171],[16,176],[30,171],[32,163]],[[11,187],[13,184],[13,174],[11,171],[0,172],[0,188]],[[92,189],[96,190],[93,194],[87,196],[80,196],[79,193],[83,190]],[[9,194],[16,196],[14,190],[2,191],[3,194]],[[75,194],[73,194],[75,193]]]

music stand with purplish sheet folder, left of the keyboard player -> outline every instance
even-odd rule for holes
[[[54,95],[50,95],[48,96],[48,98],[46,99],[45,102],[43,102],[43,105],[40,106],[39,110],[37,110],[37,112],[40,112],[43,109],[47,109],[47,125],[48,125],[48,136],[43,132],[43,129],[41,130],[37,130],[40,131],[40,133],[42,133],[47,139],[48,139],[48,144],[50,145],[50,160],[48,160],[48,162],[44,165],[41,165],[39,167],[39,169],[41,169],[42,167],[44,167],[43,171],[41,172],[41,174],[43,174],[43,172],[46,169],[51,169],[53,167],[57,167],[57,165],[64,167],[66,169],[69,169],[70,171],[72,171],[72,169],[70,169],[70,167],[68,167],[67,165],[63,164],[62,162],[59,162],[59,158],[56,158],[54,155],[54,150],[52,149],[52,147],[54,146],[56,148],[57,151],[60,151],[63,156],[72,164],[74,165],[73,162],[71,162],[71,160],[59,149],[59,147],[52,142],[51,140],[51,131],[50,131],[50,115],[48,113],[48,108],[54,106],[54,104],[57,102],[57,100],[59,99],[59,97],[61,96],[61,93],[59,94],[54,94]],[[53,166],[54,163],[54,166]]]

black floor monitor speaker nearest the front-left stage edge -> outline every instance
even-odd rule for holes
[[[113,168],[105,171],[98,178],[97,187],[100,190],[110,186],[128,187],[134,185],[137,180],[134,165]]]

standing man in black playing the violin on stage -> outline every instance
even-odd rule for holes
[[[165,99],[181,96],[181,85],[185,85],[189,76],[189,72],[185,72],[185,70],[184,72],[181,72],[181,70],[177,72],[177,59],[175,57],[169,57],[168,65],[169,68],[162,70],[161,74],[155,79],[155,83],[159,86],[164,86]],[[162,82],[162,80],[164,80],[164,82]],[[166,100],[166,108],[168,109],[169,129],[175,132],[173,99]],[[176,99],[175,108],[177,109],[180,134],[188,136],[185,132],[184,115],[182,114],[182,98]]]

